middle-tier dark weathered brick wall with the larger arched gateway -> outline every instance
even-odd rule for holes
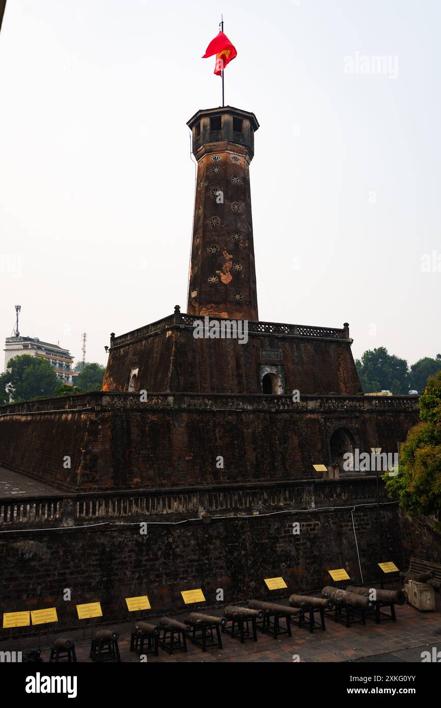
[[[347,430],[361,451],[396,452],[418,417],[415,399],[405,396],[294,403],[292,396],[153,394],[141,402],[139,394],[97,393],[53,401],[69,409],[51,411],[50,399],[8,406],[0,460],[78,490],[307,479],[313,464],[333,462],[334,431]]]

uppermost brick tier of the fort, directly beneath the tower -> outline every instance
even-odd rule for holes
[[[262,367],[276,363],[286,393],[362,392],[344,329],[336,331],[342,338],[250,331],[248,342],[240,343],[237,338],[195,338],[185,317],[180,324],[171,318],[166,331],[116,338],[103,390],[127,391],[130,372],[137,370],[136,389],[147,392],[260,394]]]

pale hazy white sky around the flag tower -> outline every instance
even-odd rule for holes
[[[86,331],[86,359],[105,363],[111,331],[185,311],[195,183],[185,122],[221,102],[214,57],[200,58],[221,12],[238,52],[226,103],[260,122],[260,319],[348,321],[355,358],[377,346],[409,363],[435,356],[438,0],[8,0],[1,341],[21,304],[21,334],[81,358]]]

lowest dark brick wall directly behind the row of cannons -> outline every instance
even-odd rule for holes
[[[353,517],[369,583],[378,573],[377,510],[355,508]],[[136,522],[123,521],[0,535],[1,612],[55,606],[63,629],[81,624],[76,603],[100,600],[103,622],[115,622],[129,617],[124,598],[136,595],[147,594],[151,614],[161,615],[185,609],[180,593],[186,589],[202,588],[210,607],[217,605],[217,588],[229,603],[319,590],[332,584],[328,569],[344,567],[352,581],[361,581],[349,508],[149,525],[147,536]],[[299,535],[293,523],[300,524]],[[382,507],[382,525],[384,559],[401,567],[396,506]],[[270,593],[263,579],[274,576],[283,576],[288,590]],[[64,588],[71,589],[70,603],[62,599]],[[14,630],[14,636],[27,632]]]

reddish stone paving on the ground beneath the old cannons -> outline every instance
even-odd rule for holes
[[[184,619],[185,615],[176,617]],[[292,637],[280,635],[273,639],[268,634],[258,632],[258,641],[246,640],[240,644],[239,639],[231,639],[222,634],[223,649],[211,648],[204,653],[202,649],[188,641],[188,653],[176,651],[172,656],[159,649],[159,656],[147,655],[149,663],[155,662],[287,662],[294,661],[298,655],[300,662],[342,662],[342,661],[420,661],[420,652],[428,645],[437,646],[441,651],[441,598],[437,595],[437,610],[435,612],[418,612],[411,605],[396,607],[396,622],[385,620],[375,624],[367,620],[367,624],[353,624],[346,628],[344,624],[336,623],[327,617],[326,632],[321,629],[310,634],[307,629],[292,626]],[[154,619],[149,620],[154,622]],[[113,625],[120,632],[119,647],[122,661],[138,662],[136,653],[130,652],[131,625]],[[65,632],[59,636],[72,636],[76,641],[76,657],[78,661],[89,662],[91,629],[86,629],[86,639],[83,632]],[[46,637],[42,638],[42,644]],[[6,644],[5,643],[1,643]],[[37,646],[36,639],[27,639],[21,643],[21,649],[26,646]],[[1,649],[6,649],[0,645]],[[418,648],[420,648],[418,650]],[[11,646],[17,649],[17,646]],[[413,650],[407,653],[403,650]],[[412,657],[412,658],[406,658]],[[42,657],[49,658],[49,649],[42,648]],[[297,660],[296,660],[297,661]]]

